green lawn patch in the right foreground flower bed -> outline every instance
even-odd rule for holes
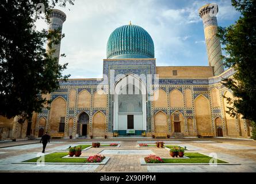
[[[202,155],[199,153],[185,153],[190,159],[162,159],[163,163],[209,163],[212,159],[209,156]],[[217,163],[228,163],[223,160],[217,159]]]

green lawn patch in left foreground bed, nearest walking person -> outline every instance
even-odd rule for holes
[[[55,152],[52,154],[45,155],[44,162],[52,163],[85,163],[86,158],[62,158],[63,156],[68,155],[66,152]],[[75,156],[74,156],[75,157]],[[30,160],[25,160],[23,162],[37,162],[40,157],[33,158]],[[43,161],[43,160],[42,160]]]

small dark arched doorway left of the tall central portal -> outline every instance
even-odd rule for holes
[[[82,112],[78,117],[77,133],[79,136],[87,136],[89,124],[89,115],[86,112]]]

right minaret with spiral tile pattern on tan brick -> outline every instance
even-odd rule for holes
[[[208,63],[213,66],[214,75],[220,75],[224,72],[223,61],[221,59],[220,39],[216,36],[217,33],[217,18],[218,5],[210,3],[200,7],[198,10],[199,16],[202,18],[204,25],[204,36],[207,45]]]

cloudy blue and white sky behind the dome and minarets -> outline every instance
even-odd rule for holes
[[[60,59],[60,64],[68,63],[64,74],[102,78],[108,37],[130,20],[151,35],[157,66],[207,66],[204,30],[197,10],[209,2],[219,5],[220,26],[238,20],[239,13],[229,0],[76,0],[74,6],[57,6],[67,15],[60,49],[67,55]],[[47,24],[39,21],[37,29],[41,28]]]

